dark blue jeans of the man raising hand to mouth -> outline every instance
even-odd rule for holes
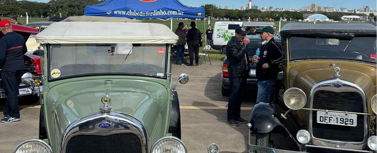
[[[230,94],[227,119],[237,119],[241,115],[241,103],[246,87],[246,77],[229,76]]]

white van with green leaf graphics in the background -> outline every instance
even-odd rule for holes
[[[237,27],[241,26],[242,22],[236,21],[218,21],[213,26],[213,49],[222,50],[227,46],[228,41],[234,36]]]

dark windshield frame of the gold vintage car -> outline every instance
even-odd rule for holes
[[[306,37],[305,37],[306,36]],[[331,37],[332,36],[332,37]],[[305,38],[311,38],[311,37],[315,37],[314,35],[290,35],[288,38],[288,54],[289,54],[289,61],[290,62],[297,62],[297,61],[313,61],[313,60],[342,60],[342,61],[357,61],[357,62],[362,62],[362,63],[374,63],[376,64],[377,62],[376,61],[368,61],[368,60],[360,60],[360,59],[356,59],[356,58],[346,58],[346,57],[311,57],[311,58],[291,58],[291,37],[305,37]],[[350,39],[354,39],[354,38],[357,38],[357,37],[376,37],[375,35],[357,35],[355,37],[355,35],[349,35],[348,36]],[[335,38],[335,39],[343,39],[344,40],[344,37],[337,37],[336,35],[326,35],[324,36],[323,38]],[[285,42],[287,43],[287,42]]]

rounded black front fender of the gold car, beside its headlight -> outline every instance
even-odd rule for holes
[[[251,110],[249,122],[251,131],[258,133],[271,132],[277,125],[281,125],[276,118],[275,109],[268,103],[255,104]]]

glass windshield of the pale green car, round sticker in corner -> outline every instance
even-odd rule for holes
[[[49,78],[96,74],[163,78],[166,51],[166,44],[51,44]]]

